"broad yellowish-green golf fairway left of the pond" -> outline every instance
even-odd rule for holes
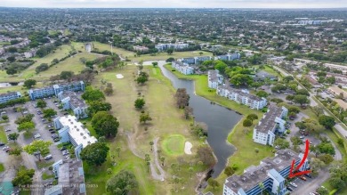
[[[112,83],[115,90],[114,94],[107,96],[106,101],[112,105],[112,114],[117,117],[120,126],[116,139],[109,140],[110,154],[108,161],[101,167],[85,167],[86,183],[97,183],[98,188],[88,188],[90,194],[101,194],[105,191],[105,183],[111,175],[107,175],[106,170],[111,168],[112,175],[117,174],[122,169],[131,170],[138,178],[140,194],[170,194],[173,189],[173,180],[171,174],[171,164],[181,165],[181,172],[174,173],[183,178],[184,182],[180,184],[180,194],[195,193],[194,189],[198,184],[196,173],[205,170],[205,167],[198,166],[198,160],[195,155],[182,154],[179,156],[165,153],[163,142],[173,134],[181,134],[187,138],[193,145],[192,152],[196,152],[198,145],[202,142],[190,134],[189,128],[191,120],[183,118],[182,110],[175,107],[173,94],[175,90],[171,82],[164,77],[159,68],[145,66],[143,71],[149,73],[149,82],[146,85],[137,85],[134,81],[136,66],[129,65],[124,69],[115,69],[109,72],[100,73],[93,82],[93,86],[101,87],[101,79]],[[117,79],[116,75],[122,74],[124,78]],[[149,111],[150,117],[153,119],[148,124],[140,124],[139,116],[141,112],[135,110],[133,102],[139,97],[138,93],[144,95],[146,105],[144,110]],[[165,95],[158,95],[165,94]],[[88,122],[86,122],[88,126]],[[146,130],[147,129],[147,130]],[[91,131],[93,134],[93,131]],[[126,134],[132,134],[132,148],[141,156],[149,154],[151,161],[154,156],[150,150],[149,142],[159,137],[158,149],[163,150],[162,156],[165,157],[166,179],[164,182],[153,180],[150,173],[147,172],[147,166],[142,158],[133,155],[129,150],[129,143]],[[182,145],[184,142],[182,142]],[[120,158],[117,158],[117,147],[121,148]],[[171,144],[170,146],[171,147]],[[174,146],[176,147],[176,146]],[[173,150],[173,149],[170,149]],[[111,156],[116,156],[117,166],[112,166]],[[189,166],[190,163],[194,169],[192,178],[190,179]]]

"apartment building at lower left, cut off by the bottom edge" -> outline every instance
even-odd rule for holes
[[[58,184],[44,191],[44,195],[85,195],[85,172],[81,160],[59,160],[52,165]]]

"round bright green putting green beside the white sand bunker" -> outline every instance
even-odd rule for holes
[[[162,148],[169,155],[182,155],[185,140],[186,138],[182,134],[172,134],[164,139]]]

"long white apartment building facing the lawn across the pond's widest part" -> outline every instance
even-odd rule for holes
[[[262,110],[267,105],[265,98],[260,98],[253,94],[249,94],[246,90],[234,89],[227,85],[218,86],[216,93],[229,100],[244,104],[254,110]]]

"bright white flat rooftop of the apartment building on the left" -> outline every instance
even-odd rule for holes
[[[91,136],[89,131],[85,129],[81,122],[77,122],[75,116],[67,115],[59,118],[62,126],[69,126],[69,135],[77,142],[77,145],[82,144],[83,148],[87,145],[97,142],[94,136]]]

